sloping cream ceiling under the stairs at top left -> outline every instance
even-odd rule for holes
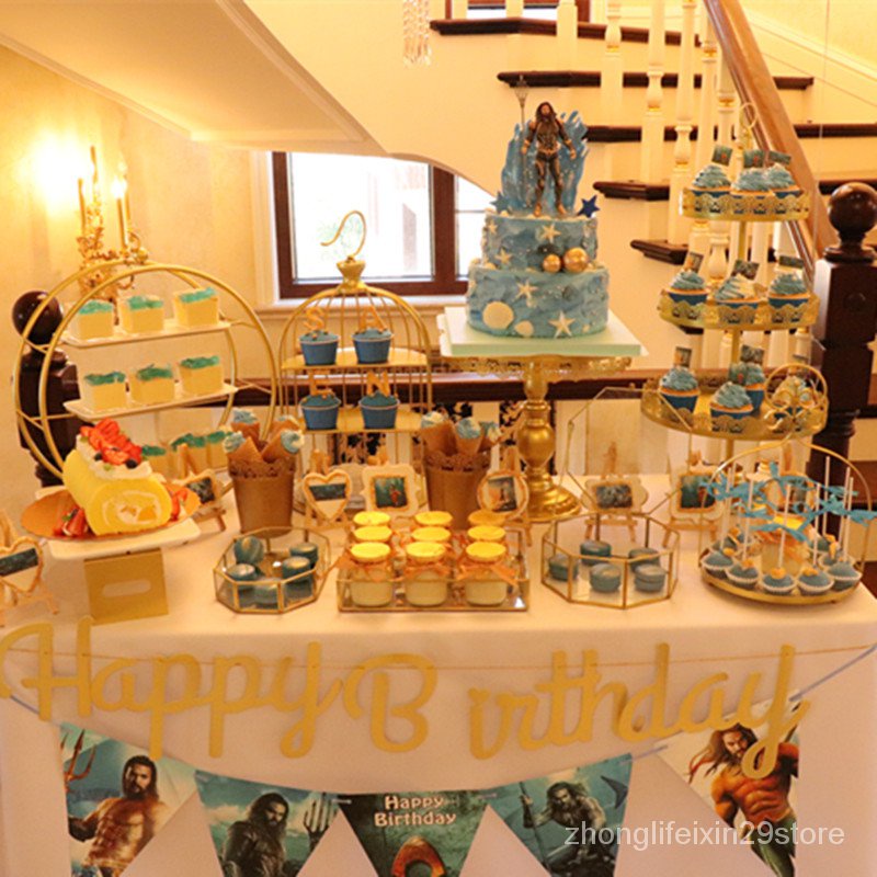
[[[242,0],[0,0],[0,45],[195,140],[380,151]]]

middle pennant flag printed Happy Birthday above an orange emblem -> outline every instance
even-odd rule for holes
[[[339,804],[378,877],[458,877],[485,812],[477,791],[350,795]]]

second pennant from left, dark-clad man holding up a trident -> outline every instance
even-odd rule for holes
[[[338,816],[335,796],[195,773],[226,877],[294,877]]]

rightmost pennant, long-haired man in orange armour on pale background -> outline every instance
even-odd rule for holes
[[[753,711],[761,715],[768,707],[770,702],[764,702]],[[797,705],[789,704],[788,715],[796,709]],[[794,730],[779,743],[773,767],[762,778],[747,776],[741,766],[747,750],[758,740],[751,728],[738,724],[725,731],[676,734],[660,755],[714,817],[752,847],[766,866],[763,874],[793,877],[798,734]]]

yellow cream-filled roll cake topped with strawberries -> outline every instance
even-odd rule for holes
[[[83,428],[62,477],[96,536],[155,529],[171,519],[168,489],[115,421]]]

